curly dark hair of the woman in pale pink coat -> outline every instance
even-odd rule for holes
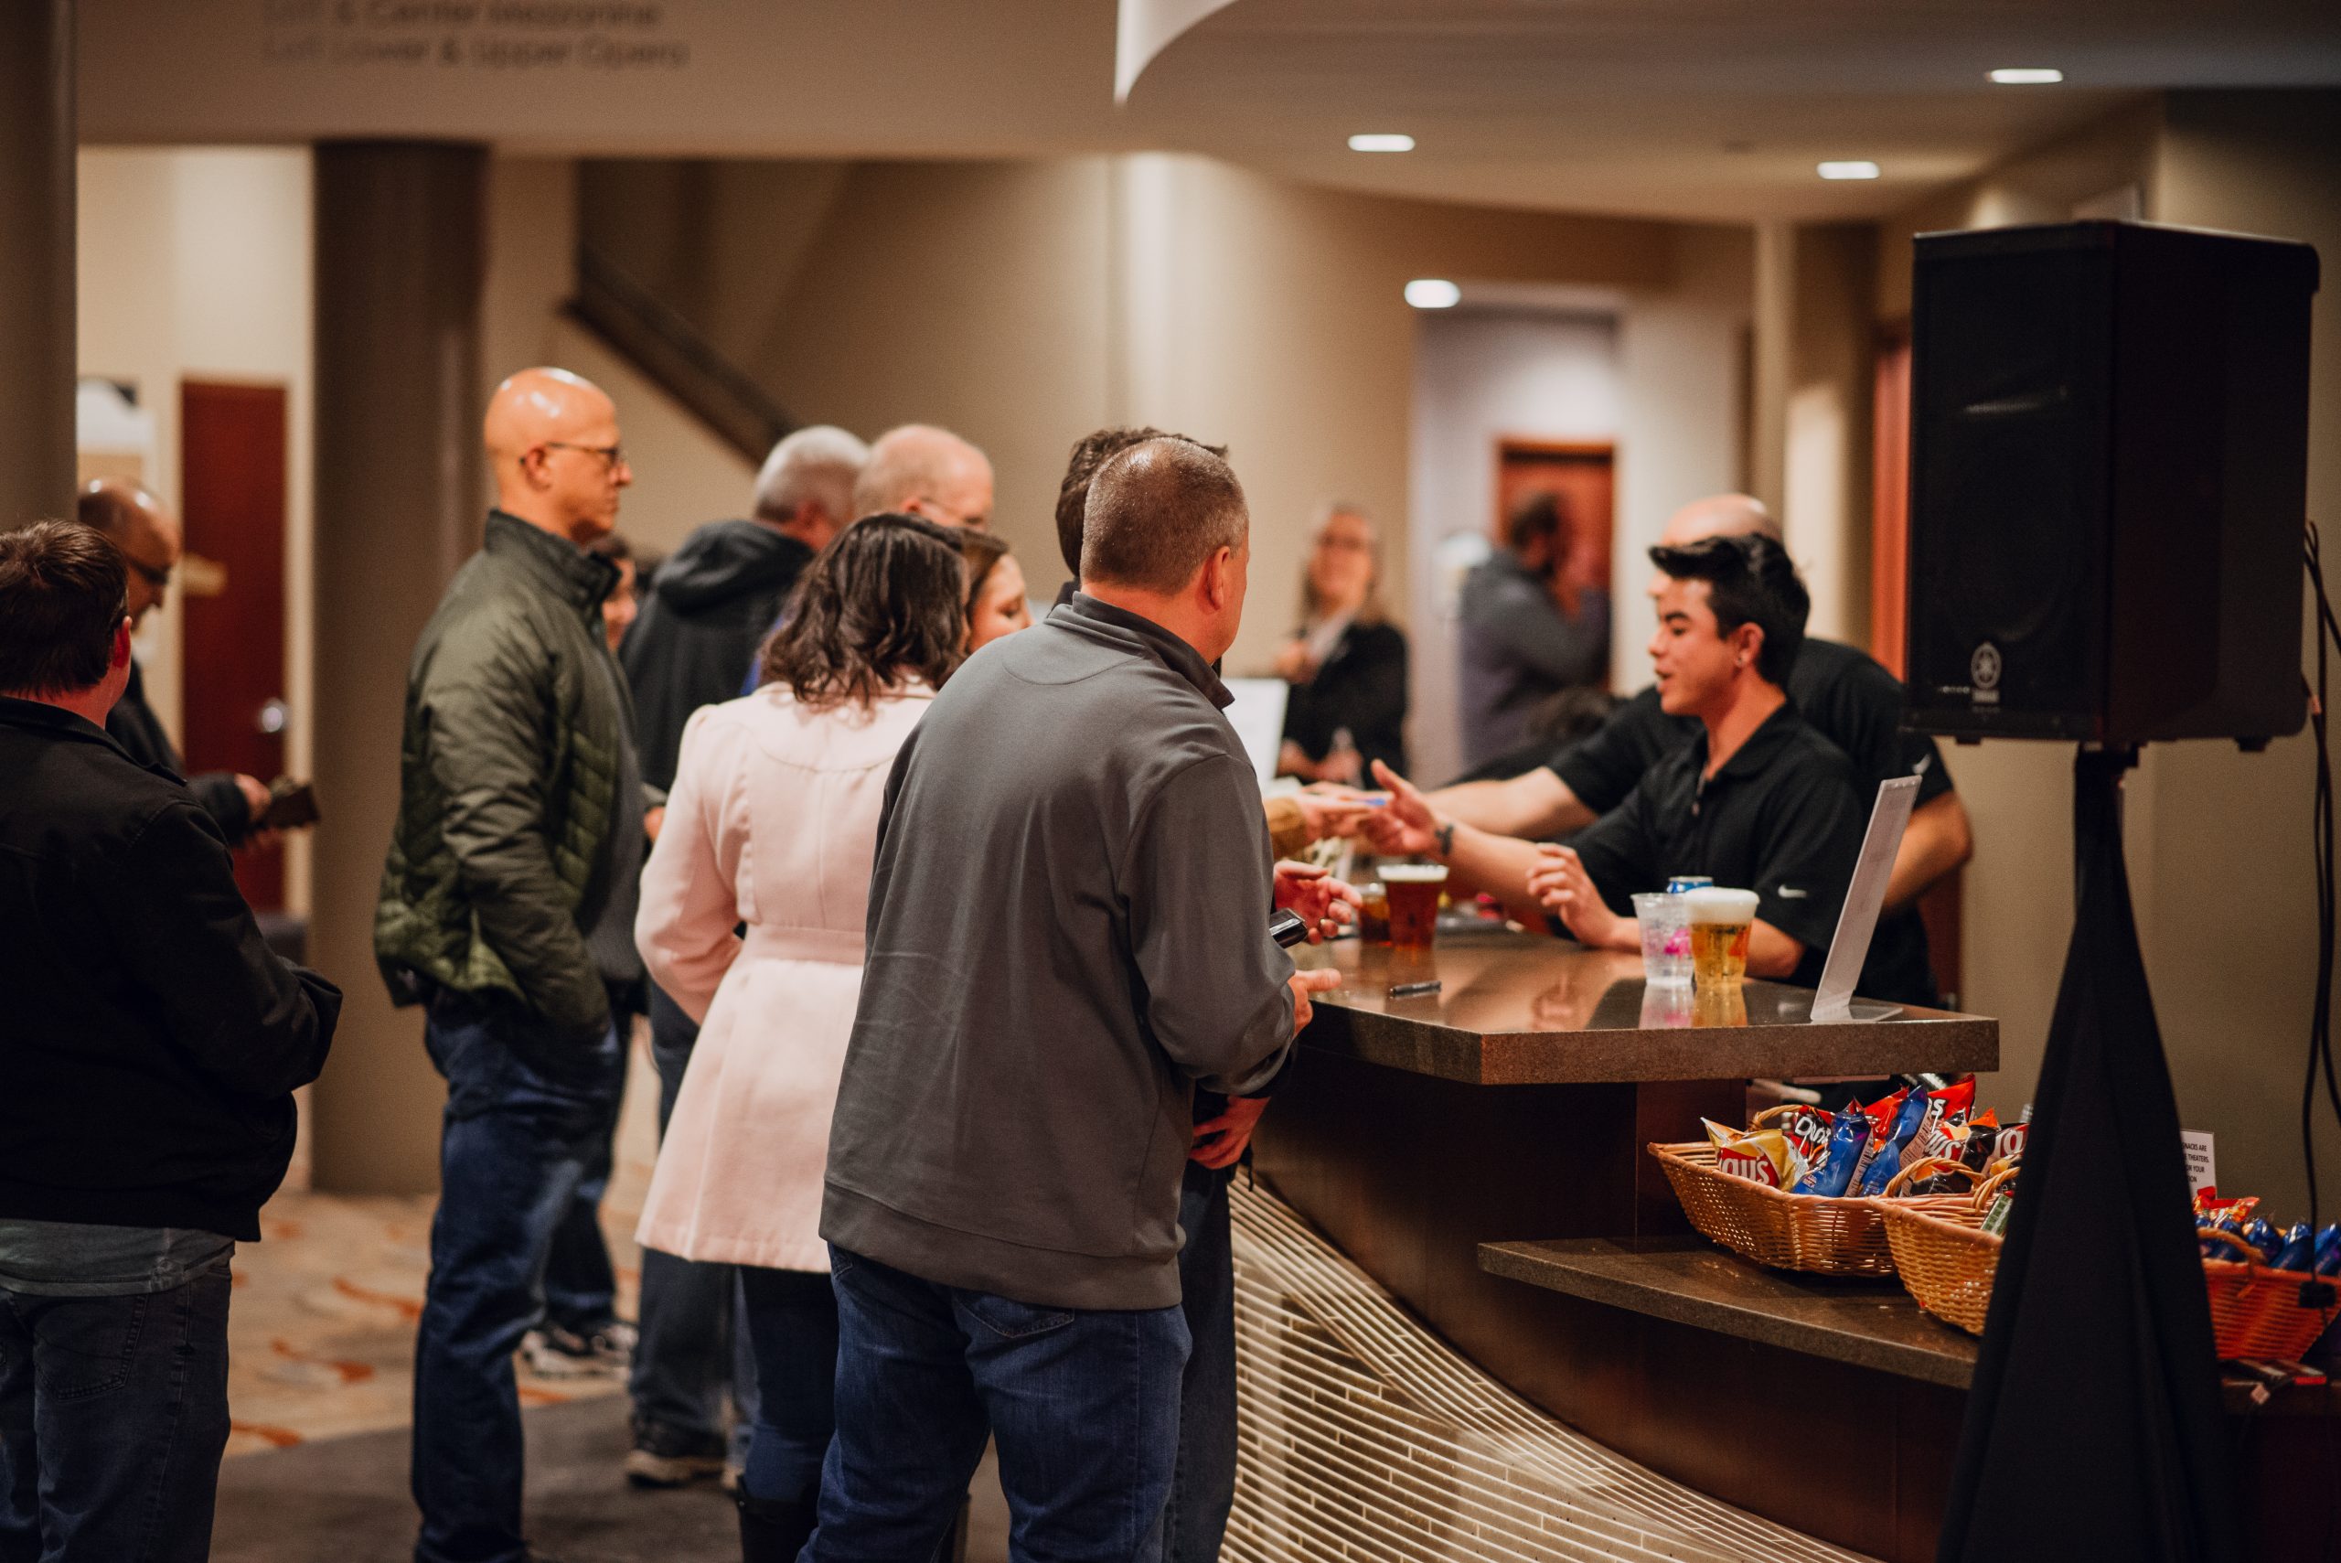
[[[801,704],[866,707],[908,679],[943,688],[964,646],[957,531],[887,510],[812,557],[758,669],[761,683],[787,683]]]

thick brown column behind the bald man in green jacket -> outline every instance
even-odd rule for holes
[[[407,657],[478,548],[482,147],[316,150],[316,889],[309,948],[342,985],[316,1088],[316,1186],[438,1186],[445,1090],[421,1011],[375,971]]]

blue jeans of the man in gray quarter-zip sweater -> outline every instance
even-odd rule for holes
[[[1152,1561],[1178,1458],[1178,1308],[1035,1308],[829,1247],[838,1434],[805,1563],[934,1554],[1000,1448],[1009,1558]]]

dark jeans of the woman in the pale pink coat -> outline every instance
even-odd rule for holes
[[[812,1502],[838,1427],[838,1294],[808,1271],[740,1266],[740,1322],[756,1357],[749,1497]]]

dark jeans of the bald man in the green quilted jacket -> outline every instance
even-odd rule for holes
[[[440,994],[424,1027],[447,1076],[431,1287],[414,1338],[419,1563],[517,1563],[513,1348],[545,1310],[552,1233],[609,1154],[625,1051],[548,1037],[508,1001]]]

